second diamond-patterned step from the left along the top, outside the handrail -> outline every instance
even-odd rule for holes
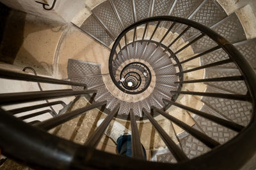
[[[93,8],[92,13],[102,22],[102,24],[106,25],[106,28],[109,29],[109,32],[111,32],[115,38],[122,32],[109,1],[104,1]]]

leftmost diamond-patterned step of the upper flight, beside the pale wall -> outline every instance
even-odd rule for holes
[[[105,46],[109,46],[113,42],[111,36],[93,15],[90,15],[80,28]]]

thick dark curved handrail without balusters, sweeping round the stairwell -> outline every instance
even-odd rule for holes
[[[52,136],[40,129],[32,128],[30,125],[12,117],[10,113],[0,109],[0,148],[3,150],[3,154],[32,167],[50,169],[84,169],[86,167],[92,169],[141,169],[141,167],[144,169],[239,169],[243,166],[246,160],[250,159],[256,152],[256,74],[252,67],[225,38],[208,27],[188,19],[170,16],[152,17],[132,24],[124,32],[136,27],[136,25],[159,20],[179,22],[195,27],[216,41],[230,55],[230,58],[243,74],[249,90],[248,94],[252,98],[252,120],[243,131],[224,145],[218,146],[200,157],[178,164],[162,164],[120,157],[95,148],[78,145],[72,141]],[[120,37],[121,35],[117,39],[120,40]],[[118,45],[116,42],[113,48]],[[114,51],[112,50],[111,56],[113,54]]]

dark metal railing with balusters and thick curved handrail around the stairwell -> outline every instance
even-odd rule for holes
[[[44,122],[38,122],[33,126],[22,122],[18,118],[13,117],[13,113],[17,113],[17,111],[8,111],[0,109],[0,148],[1,152],[10,157],[11,159],[18,160],[24,164],[27,164],[32,167],[37,167],[40,169],[238,169],[243,166],[243,164],[252,157],[256,152],[255,143],[256,143],[256,117],[255,117],[255,101],[256,101],[256,75],[253,71],[252,67],[246,59],[244,59],[243,55],[225,38],[216,34],[216,32],[212,31],[208,27],[204,25],[198,24],[191,20],[187,20],[184,18],[178,17],[152,17],[147,18],[145,20],[141,20],[127,27],[120,36],[116,39],[113,48],[111,50],[111,54],[109,57],[109,73],[113,82],[117,85],[117,81],[113,74],[113,60],[115,60],[116,48],[120,43],[122,37],[127,34],[128,31],[140,27],[141,25],[145,25],[145,31],[152,22],[157,22],[156,28],[159,27],[161,22],[173,22],[187,25],[188,28],[193,27],[201,32],[201,35],[197,38],[190,41],[188,44],[177,50],[177,52],[172,53],[172,57],[174,57],[177,53],[181,52],[189,45],[195,43],[198,39],[203,36],[208,36],[213,41],[217,43],[218,46],[214,48],[222,48],[229,56],[229,59],[223,60],[220,62],[214,62],[212,64],[207,64],[205,66],[196,67],[194,69],[188,69],[186,71],[182,71],[177,73],[178,76],[181,76],[184,73],[189,73],[192,71],[196,71],[198,69],[204,69],[211,66],[219,66],[220,64],[225,64],[229,62],[234,62],[236,66],[239,68],[241,72],[241,76],[231,76],[227,78],[209,78],[203,80],[189,80],[183,81],[180,80],[177,83],[197,83],[197,82],[207,82],[207,81],[238,81],[243,80],[246,83],[246,87],[248,88],[247,94],[221,94],[221,93],[207,93],[207,92],[187,92],[187,91],[173,91],[174,94],[184,94],[184,95],[196,95],[196,96],[211,96],[218,97],[223,99],[234,99],[238,101],[248,101],[252,103],[252,119],[250,124],[247,127],[243,127],[242,125],[236,124],[234,122],[230,122],[229,120],[224,120],[220,117],[215,117],[213,115],[209,115],[203,111],[195,110],[193,108],[189,108],[188,106],[176,103],[174,100],[164,100],[164,102],[182,108],[184,110],[190,111],[200,117],[207,118],[212,122],[216,122],[217,124],[223,125],[228,129],[232,129],[233,131],[239,132],[236,137],[225,143],[224,145],[220,145],[217,141],[209,136],[206,136],[200,131],[193,129],[189,125],[184,122],[178,120],[177,118],[172,117],[171,115],[165,113],[163,110],[159,110],[155,107],[152,107],[152,111],[158,112],[163,117],[166,117],[168,120],[172,121],[174,124],[177,124],[179,127],[182,127],[185,131],[189,132],[192,136],[199,139],[211,148],[211,152],[205,153],[200,157],[196,157],[195,159],[189,160],[185,153],[177,146],[170,136],[164,132],[163,128],[156,122],[156,120],[143,109],[143,113],[148,117],[152,125],[156,128],[157,132],[159,132],[161,138],[163,139],[166,146],[168,146],[170,152],[172,152],[173,156],[177,160],[177,164],[162,164],[159,162],[147,162],[144,160],[144,156],[142,153],[141,145],[140,145],[140,136],[138,134],[138,128],[136,126],[135,117],[132,109],[130,110],[131,115],[131,125],[132,125],[132,156],[129,157],[120,157],[119,155],[114,155],[111,153],[102,152],[100,150],[96,150],[95,147],[99,143],[102,135],[106,127],[108,127],[112,118],[115,117],[120,104],[118,104],[111,113],[108,114],[108,117],[105,118],[104,122],[100,124],[97,130],[93,133],[92,136],[84,143],[84,145],[78,145],[73,143],[72,141],[67,141],[66,139],[61,139],[52,134],[48,134],[46,131],[56,127],[58,125],[71,120],[79,115],[85,114],[86,111],[92,110],[93,108],[99,108],[107,104],[106,101],[102,101],[99,103],[92,103],[90,106],[84,106],[78,110],[70,111],[69,113],[65,113],[63,115],[58,115],[57,117],[51,118]],[[173,25],[172,24],[172,25]],[[171,27],[172,27],[171,25]],[[171,30],[168,29],[168,31]],[[185,29],[188,31],[188,29]],[[145,31],[143,33],[142,39],[145,38]],[[184,31],[184,33],[186,32]],[[154,31],[156,32],[156,31]],[[154,32],[149,40],[152,40],[154,36]],[[165,37],[165,35],[164,35]],[[164,39],[163,37],[163,39]],[[180,38],[180,36],[179,36]],[[176,39],[175,39],[176,40]],[[134,38],[134,41],[135,38]],[[148,40],[147,40],[148,41]],[[161,40],[162,41],[162,40]],[[161,45],[161,41],[156,42],[157,45]],[[177,41],[177,40],[176,40]],[[173,42],[170,43],[169,47],[172,46]],[[162,46],[163,47],[163,46]],[[168,46],[167,46],[168,47]],[[169,50],[169,48],[166,48]],[[211,50],[207,50],[203,53],[208,53]],[[200,57],[202,53],[195,55],[192,58]],[[192,59],[191,58],[191,59]],[[184,62],[189,62],[188,60],[184,60]],[[180,63],[177,62],[177,66],[180,67]],[[22,81],[35,81],[35,82],[43,82],[43,83],[52,83],[52,84],[61,84],[61,85],[73,85],[80,86],[86,88],[86,85],[83,83],[76,83],[72,81],[65,80],[56,80],[52,78],[45,78],[42,76],[33,76],[30,74],[22,74],[15,73],[13,71],[0,70],[0,77],[7,78],[12,80],[22,80]],[[17,103],[27,103],[30,101],[39,101],[44,99],[52,99],[58,97],[66,97],[66,96],[77,96],[83,94],[93,94],[97,93],[96,90],[81,90],[81,91],[73,91],[70,89],[67,90],[50,90],[44,92],[20,92],[20,93],[8,93],[8,94],[0,94],[0,105],[6,106],[9,104],[17,104]],[[54,103],[51,103],[54,104]],[[50,106],[50,103],[44,104],[44,106]],[[56,104],[56,103],[55,103]],[[31,106],[32,108],[40,108],[42,105]],[[28,110],[28,108],[26,108]],[[20,111],[23,111],[20,109]],[[32,156],[31,156],[32,155]],[[238,157],[239,156],[239,157]]]

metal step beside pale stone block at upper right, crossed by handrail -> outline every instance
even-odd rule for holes
[[[241,25],[236,13],[232,13],[224,20],[221,20],[221,22],[218,22],[218,24],[212,27],[212,30],[216,31],[218,34],[232,43],[246,40],[243,26]],[[201,38],[200,40],[196,41],[196,43],[191,45],[195,53],[202,52],[214,46],[216,46],[216,43],[208,36],[204,36],[204,38]]]

